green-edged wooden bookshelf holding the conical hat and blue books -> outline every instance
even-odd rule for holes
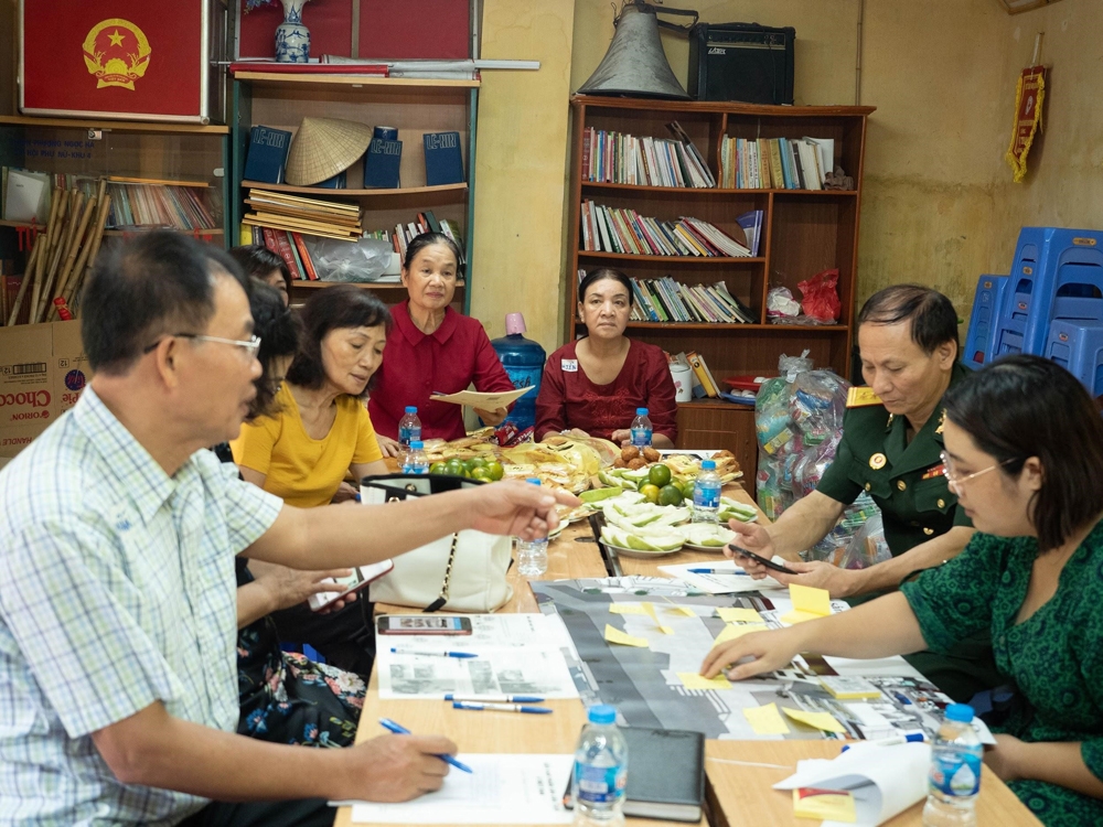
[[[428,80],[343,75],[289,75],[265,72],[238,72],[234,77],[232,144],[234,147],[233,197],[231,223],[234,241],[239,240],[244,203],[250,187],[285,192],[307,197],[351,202],[363,211],[365,232],[394,230],[396,224],[417,219],[417,213],[431,210],[437,218],[454,222],[461,229],[467,265],[456,289],[452,307],[468,312],[471,279],[472,225],[474,215],[475,125],[479,106],[479,80]],[[249,146],[249,130],[257,125],[295,132],[304,117],[354,120],[368,126],[398,129],[403,141],[401,187],[368,190],[357,187],[364,180],[363,159],[347,170],[349,189],[330,190],[292,184],[267,184],[244,179]],[[460,133],[463,171],[467,181],[459,184],[426,186],[425,132]],[[291,300],[306,300],[313,290],[328,287],[323,281],[292,282]],[[377,291],[387,304],[406,297],[396,283],[363,283]]]

